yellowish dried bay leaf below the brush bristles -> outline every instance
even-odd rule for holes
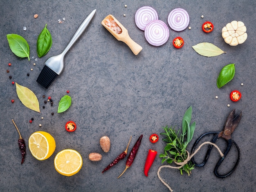
[[[22,85],[19,85],[18,83],[16,83],[16,92],[17,92],[18,98],[20,99],[23,105],[25,105],[27,108],[31,110],[34,110],[40,113],[39,102],[34,92],[32,92],[27,87],[23,87]]]

